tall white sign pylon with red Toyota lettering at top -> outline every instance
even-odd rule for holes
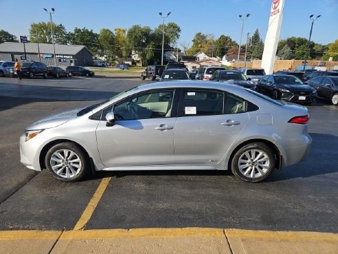
[[[272,0],[269,27],[264,42],[264,51],[261,67],[267,74],[272,74],[275,64],[275,53],[277,52],[278,39],[280,37],[280,26],[282,25],[285,0]]]

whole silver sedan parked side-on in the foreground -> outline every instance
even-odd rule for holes
[[[308,110],[218,82],[139,85],[44,118],[20,138],[21,162],[73,182],[92,170],[232,170],[260,182],[308,154]]]

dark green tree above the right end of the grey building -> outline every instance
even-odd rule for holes
[[[84,45],[94,54],[97,53],[99,49],[98,37],[98,34],[87,28],[75,28],[74,32],[68,33],[69,43],[72,45]]]

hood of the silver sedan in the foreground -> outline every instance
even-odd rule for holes
[[[32,123],[32,125],[28,126],[26,130],[34,130],[34,129],[49,129],[58,127],[59,125],[63,125],[67,123],[69,120],[76,118],[76,114],[80,112],[84,107],[78,107],[76,109],[71,109],[66,112],[62,112],[59,114],[54,114],[52,116],[47,116],[41,120]]]

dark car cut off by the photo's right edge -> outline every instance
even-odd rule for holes
[[[319,98],[338,105],[338,76],[317,76],[306,83],[316,89]]]

